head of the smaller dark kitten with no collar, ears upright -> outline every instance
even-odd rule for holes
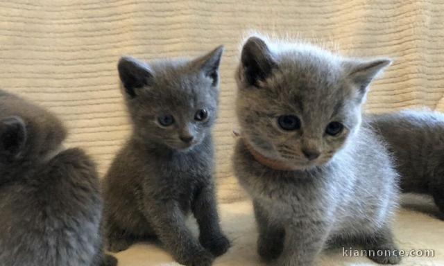
[[[151,64],[122,57],[119,76],[135,137],[187,150],[210,134],[217,114],[222,52],[219,46],[194,60]]]

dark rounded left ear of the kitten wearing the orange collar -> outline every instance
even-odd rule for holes
[[[273,53],[259,37],[250,37],[244,44],[241,53],[241,73],[248,85],[258,86],[258,82],[265,80],[271,71],[277,67]]]

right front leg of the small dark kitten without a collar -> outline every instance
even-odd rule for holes
[[[196,199],[194,199],[192,210],[199,225],[200,244],[210,250],[214,256],[224,254],[230,248],[230,241],[223,235],[219,225],[219,215],[212,184],[200,190]]]

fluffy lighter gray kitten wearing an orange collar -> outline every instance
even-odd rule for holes
[[[264,260],[313,265],[324,247],[343,242],[395,249],[390,224],[398,175],[382,141],[361,125],[368,85],[390,62],[259,37],[244,44],[233,161],[253,197]]]

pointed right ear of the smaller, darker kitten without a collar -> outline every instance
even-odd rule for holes
[[[219,83],[219,65],[223,53],[223,45],[218,46],[210,53],[196,58],[191,62],[193,67],[202,71],[203,74],[213,80],[212,85],[216,87]]]

